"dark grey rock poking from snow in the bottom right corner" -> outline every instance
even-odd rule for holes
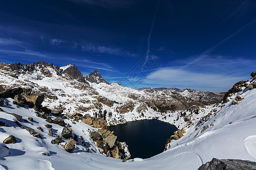
[[[210,162],[207,162],[201,167],[199,170],[210,170],[210,169],[218,169],[218,170],[240,170],[240,169],[248,169],[253,170],[256,169],[256,163],[250,162],[249,160],[239,160],[239,159],[216,159],[213,158]]]

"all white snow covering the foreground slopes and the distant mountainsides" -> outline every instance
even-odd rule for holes
[[[25,79],[29,79],[30,82]],[[22,87],[30,86],[35,90],[45,87],[57,96],[58,100],[46,99],[43,105],[54,108],[56,105],[63,104],[67,108],[64,113],[69,114],[75,113],[77,106],[89,107],[92,105],[92,101],[96,101],[94,98],[96,95],[90,94],[91,91],[96,91],[99,95],[122,104],[132,100],[127,95],[144,96],[146,94],[144,90],[133,90],[122,87],[117,83],[90,83],[91,87],[80,90],[71,85],[71,83],[74,83],[71,80],[57,76],[52,78],[43,77],[42,80],[38,80],[35,79],[35,75],[31,77],[23,75],[16,79],[0,73],[0,82],[5,85],[9,84],[10,87],[16,87],[16,84],[20,84]],[[81,85],[78,82],[75,83],[77,86]],[[250,83],[253,83],[253,81]],[[157,93],[155,95],[163,92]],[[189,96],[189,92],[184,90],[183,95]],[[239,101],[238,104],[232,105],[232,100],[235,100],[238,95],[244,99]],[[55,136],[50,137],[48,129],[44,126],[48,122],[37,117],[34,109],[18,108],[13,104],[13,99],[1,99],[7,101],[9,105],[4,104],[1,107],[4,112],[0,111],[0,121],[6,122],[10,127],[0,126],[0,142],[3,142],[9,135],[14,135],[17,143],[6,145],[9,147],[9,152],[5,147],[2,147],[4,144],[0,143],[0,169],[197,169],[201,164],[209,162],[212,158],[242,159],[256,162],[255,96],[256,89],[248,90],[248,88],[243,87],[241,92],[229,97],[230,101],[228,103],[201,107],[199,114],[191,114],[189,111],[158,113],[148,108],[144,117],[139,117],[136,109],[140,103],[137,103],[137,101],[134,101],[133,111],[122,115],[114,112],[118,104],[114,104],[113,107],[103,105],[102,110],[106,109],[108,112],[112,112],[113,116],[119,118],[118,120],[135,121],[145,118],[158,118],[161,121],[176,125],[179,129],[185,127],[187,131],[182,138],[172,140],[169,144],[171,147],[167,151],[152,158],[135,158],[134,161],[128,160],[125,163],[121,162],[120,159],[107,158],[100,154],[96,143],[89,137],[89,131],[97,129],[81,121],[72,124],[72,120],[64,119],[66,124],[71,125],[73,133],[79,137],[79,145],[76,146],[72,154],[65,151],[61,145],[52,145],[51,140],[56,138],[56,134],[61,135],[63,127],[51,124]],[[80,103],[78,100],[89,100],[90,103]],[[94,109],[94,111],[98,110]],[[19,122],[24,126],[24,129],[20,129],[13,122],[13,119],[16,120],[16,118],[6,112],[22,116],[22,120]],[[186,112],[186,115],[191,117],[191,125],[184,121],[180,112]],[[178,115],[179,120],[177,120]],[[24,121],[28,120],[28,117],[32,117],[34,122]],[[44,131],[36,129],[38,127],[41,127]],[[204,129],[204,127],[208,128]],[[43,139],[30,135],[26,130],[27,128],[32,128],[35,133],[40,133]],[[80,136],[85,140],[85,147],[81,145]],[[64,141],[67,142],[67,139],[64,139]],[[154,149],[154,146],[150,149]],[[43,153],[46,155],[43,155]]]

